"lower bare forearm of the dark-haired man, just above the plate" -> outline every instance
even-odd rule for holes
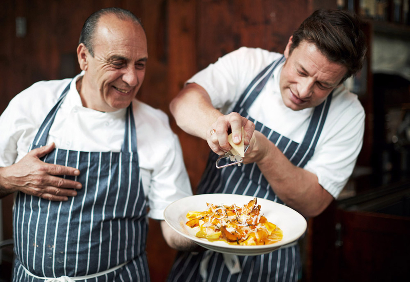
[[[268,139],[264,143],[267,150],[257,165],[286,205],[307,217],[316,216],[329,206],[333,197],[319,184],[315,174],[294,166]]]

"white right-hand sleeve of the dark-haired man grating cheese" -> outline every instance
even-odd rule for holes
[[[322,133],[323,143],[316,147],[304,167],[317,175],[319,184],[334,198],[338,197],[355,167],[363,144],[364,117],[364,110],[357,102],[342,110],[336,120],[329,120],[326,125],[329,131]]]

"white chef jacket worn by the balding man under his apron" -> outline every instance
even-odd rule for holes
[[[47,144],[75,151],[119,152],[124,142],[127,109],[99,112],[83,107],[71,81],[57,111]],[[42,81],[16,95],[0,116],[0,167],[27,154],[38,128],[71,79]],[[138,160],[149,216],[163,219],[163,210],[177,199],[192,195],[178,137],[168,116],[137,99],[133,101]]]

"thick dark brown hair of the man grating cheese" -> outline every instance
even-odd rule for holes
[[[329,61],[347,68],[342,83],[363,66],[367,46],[361,28],[362,21],[351,11],[317,10],[293,33],[289,54],[302,41],[315,44]]]

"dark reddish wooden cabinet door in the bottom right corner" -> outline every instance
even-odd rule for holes
[[[340,211],[342,281],[404,281],[408,268],[410,218]]]

